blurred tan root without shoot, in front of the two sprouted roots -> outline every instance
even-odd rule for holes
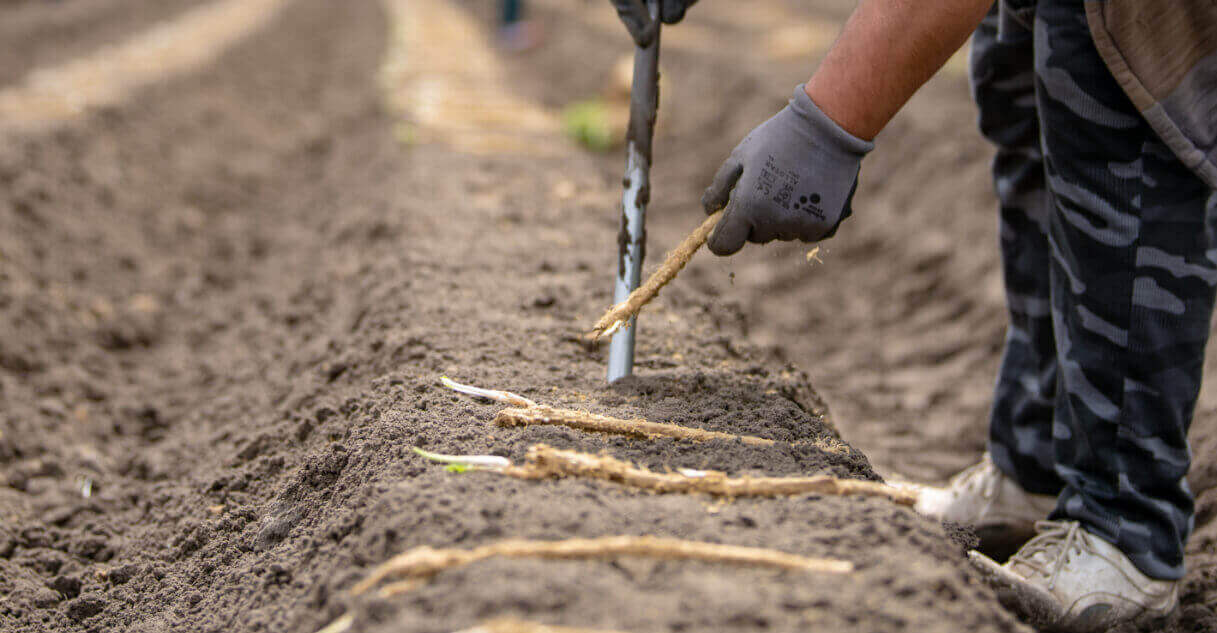
[[[729,565],[772,567],[779,570],[820,573],[848,573],[853,564],[847,560],[811,559],[775,549],[723,545],[661,537],[602,537],[567,540],[509,539],[473,549],[436,549],[428,545],[406,550],[372,570],[352,587],[352,595],[360,595],[381,581],[398,578],[430,578],[444,570],[461,567],[492,558],[604,560],[621,556],[645,556],[662,560],[697,560]]]

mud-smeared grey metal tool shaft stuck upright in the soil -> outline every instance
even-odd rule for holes
[[[649,0],[651,19],[658,23],[660,2]],[[617,237],[617,281],[613,302],[621,303],[638,287],[646,256],[646,205],[651,197],[651,139],[660,102],[660,34],[646,47],[634,49],[634,83],[630,88],[626,178],[622,194],[621,233]],[[634,372],[636,319],[613,335],[608,346],[608,382]]]

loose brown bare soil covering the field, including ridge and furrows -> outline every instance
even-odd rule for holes
[[[0,4],[0,28],[32,24],[0,41],[43,51],[12,68],[54,65],[189,4]],[[85,5],[80,24],[112,24],[102,39],[50,27]],[[821,45],[769,35],[820,33],[848,2],[702,5],[666,43],[652,263]],[[556,110],[600,90],[628,47],[591,6],[537,4],[545,45],[503,60],[516,97]],[[723,503],[449,472],[411,453],[518,461],[544,442],[661,471],[863,480],[974,461],[1004,314],[988,150],[958,72],[885,133],[824,264],[797,246],[700,257],[645,313],[639,375],[607,388],[605,349],[579,335],[610,302],[619,155],[400,142],[377,83],[388,27],[378,2],[292,0],[207,69],[0,139],[0,629],[310,633],[349,614],[360,632],[500,616],[635,633],[1027,631],[968,567],[966,534],[885,499]],[[21,75],[0,62],[0,88]],[[775,443],[503,428],[504,405],[442,375]],[[1200,512],[1177,632],[1217,631],[1208,393],[1193,436]],[[411,547],[615,534],[856,571],[490,560],[349,594]]]

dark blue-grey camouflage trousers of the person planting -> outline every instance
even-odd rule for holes
[[[993,461],[1058,495],[1053,519],[1079,521],[1150,577],[1179,578],[1217,197],[1125,96],[1081,0],[1003,0],[971,68],[998,146],[1010,313]]]

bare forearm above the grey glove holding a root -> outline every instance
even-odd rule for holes
[[[862,0],[807,96],[842,128],[874,139],[968,41],[993,0]]]

